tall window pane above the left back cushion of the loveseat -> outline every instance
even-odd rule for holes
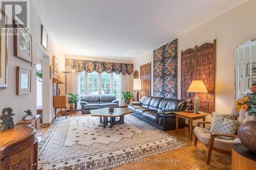
[[[98,94],[98,82],[99,82],[99,75],[98,72],[88,72],[88,94]]]

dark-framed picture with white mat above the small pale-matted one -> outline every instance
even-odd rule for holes
[[[14,56],[32,63],[32,36],[16,20],[13,20]]]

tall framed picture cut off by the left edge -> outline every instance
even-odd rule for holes
[[[8,17],[4,11],[0,9],[0,29],[2,30],[7,28],[6,23],[8,23]],[[7,60],[8,60],[8,44],[7,44],[8,36],[7,34],[3,34],[0,32],[0,87],[7,87]]]

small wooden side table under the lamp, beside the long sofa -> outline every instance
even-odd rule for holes
[[[199,114],[190,113],[190,112],[174,112],[174,113],[176,114],[176,131],[177,131],[177,133],[178,133],[178,129],[179,129],[179,117],[188,120],[189,140],[192,140],[193,120],[203,119],[203,121],[205,121],[205,116],[207,116],[207,114],[203,114],[203,113],[199,113]],[[203,127],[205,128],[205,124],[203,125]]]

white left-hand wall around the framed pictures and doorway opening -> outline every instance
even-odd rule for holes
[[[11,19],[11,18],[9,18]],[[37,11],[33,3],[30,3],[30,34],[32,36],[32,55],[33,63],[36,62],[36,46],[45,51],[44,48],[40,45],[40,36],[41,36],[41,19],[38,16]],[[19,120],[23,118],[24,110],[31,109],[33,113],[36,113],[36,68],[33,68],[30,63],[23,61],[17,57],[13,56],[13,36],[8,37],[8,87],[6,89],[0,89],[0,112],[6,107],[11,107],[13,109],[14,123],[16,124]],[[51,36],[49,35],[48,41],[48,51],[46,54],[50,57],[50,64],[52,65],[52,56],[59,55],[59,52],[54,46]],[[60,55],[61,56],[61,55]],[[65,56],[62,56],[65,58]],[[16,95],[16,67],[21,66],[24,68],[31,69],[33,72],[32,81],[31,81],[31,93]],[[50,79],[49,79],[50,80]],[[50,112],[44,113],[49,114],[49,120],[46,123],[49,123],[50,120],[54,117],[54,110],[52,108],[52,80],[50,81]],[[48,91],[49,92],[49,91]]]

